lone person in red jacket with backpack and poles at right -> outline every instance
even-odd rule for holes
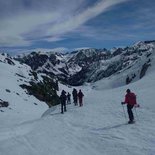
[[[126,95],[125,95],[125,101],[122,102],[122,104],[127,104],[127,111],[128,111],[128,115],[129,115],[129,124],[130,123],[134,123],[134,115],[132,112],[132,109],[135,105],[137,105],[136,102],[136,95],[130,91],[130,89],[126,90]]]

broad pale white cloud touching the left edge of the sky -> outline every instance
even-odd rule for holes
[[[48,23],[50,20],[55,21],[59,17],[58,13],[34,13],[16,16],[11,19],[4,19],[0,27],[0,44],[7,46],[28,46],[31,44],[26,40],[24,34],[35,30],[38,26]]]

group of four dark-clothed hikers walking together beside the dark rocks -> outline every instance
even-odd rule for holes
[[[79,92],[74,88],[72,91],[72,95],[73,95],[73,103],[75,106],[78,105],[79,102],[79,106],[83,106],[83,97],[84,94],[81,91],[81,89],[79,90]],[[61,103],[61,113],[63,114],[64,112],[67,111],[66,109],[66,104],[71,104],[71,94],[68,92],[66,94],[65,90],[62,90],[61,95],[60,95],[60,103]]]

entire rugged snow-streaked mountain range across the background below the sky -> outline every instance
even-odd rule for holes
[[[96,82],[124,72],[128,83],[141,78],[151,65],[155,41],[138,42],[126,48],[80,49],[67,54],[32,52],[17,60],[31,66],[36,72],[56,77],[69,85],[79,86]],[[131,68],[137,68],[134,73]]]

